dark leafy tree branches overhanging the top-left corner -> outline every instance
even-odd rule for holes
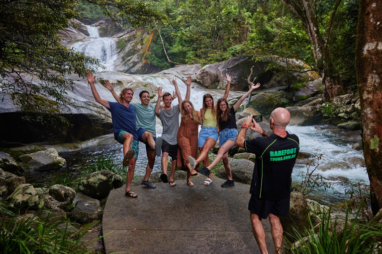
[[[151,3],[139,0],[89,0],[115,21],[132,25],[161,19]],[[60,44],[57,32],[77,18],[77,0],[1,0],[0,1],[1,89],[11,94],[24,111],[54,110],[44,96],[63,100],[73,86],[64,74],[86,75],[99,66],[87,57]],[[51,112],[54,113],[54,112]]]

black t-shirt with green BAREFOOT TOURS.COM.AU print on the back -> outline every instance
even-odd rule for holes
[[[286,132],[286,137],[246,139],[244,148],[256,154],[250,193],[268,200],[280,200],[290,195],[291,174],[299,151],[299,140]]]

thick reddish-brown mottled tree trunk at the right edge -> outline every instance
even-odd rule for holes
[[[364,156],[370,185],[382,207],[382,4],[361,0],[356,70],[362,109]]]

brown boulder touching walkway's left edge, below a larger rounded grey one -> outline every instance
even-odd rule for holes
[[[73,204],[72,218],[78,223],[86,224],[102,217],[103,210],[97,199],[77,193]]]

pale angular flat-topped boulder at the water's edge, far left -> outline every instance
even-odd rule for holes
[[[35,153],[23,154],[20,160],[35,170],[58,169],[66,166],[66,161],[58,155],[54,148]]]

